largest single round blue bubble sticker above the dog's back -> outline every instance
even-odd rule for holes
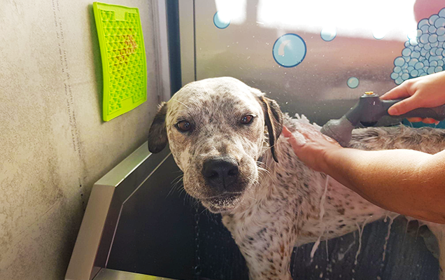
[[[285,34],[275,41],[272,55],[281,66],[295,67],[306,57],[306,43],[297,34]]]

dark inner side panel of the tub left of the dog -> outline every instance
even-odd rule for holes
[[[185,202],[185,193],[179,195],[172,186],[180,178],[169,156],[122,202],[107,268],[193,277],[195,209]]]

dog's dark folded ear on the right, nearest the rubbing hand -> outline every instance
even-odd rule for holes
[[[269,146],[271,147],[272,157],[278,162],[276,158],[276,139],[280,137],[281,130],[283,130],[283,113],[281,113],[280,106],[275,100],[267,97],[259,97],[262,104],[262,110],[264,112],[264,123],[267,126],[267,132],[269,133]]]

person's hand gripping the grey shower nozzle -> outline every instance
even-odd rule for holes
[[[407,99],[397,102],[390,107],[388,113],[399,116],[417,108],[432,108],[445,104],[445,72],[439,72],[405,80],[401,85],[394,87],[381,99]],[[432,118],[408,118],[410,122],[439,123]]]

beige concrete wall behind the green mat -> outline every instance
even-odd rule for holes
[[[92,185],[146,141],[155,9],[107,3],[140,9],[148,100],[104,123],[92,1],[0,1],[0,279],[63,279]]]

